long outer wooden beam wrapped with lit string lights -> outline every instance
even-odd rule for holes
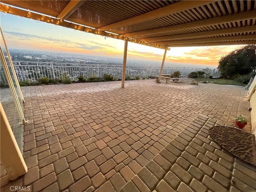
[[[96,29],[93,29],[93,28],[90,28],[90,27],[86,27],[86,26],[82,26],[82,25],[79,25],[79,24],[74,24],[74,23],[71,23],[71,22],[67,22],[67,21],[64,21],[64,20],[52,18],[50,16],[30,12],[29,10],[22,10],[22,9],[19,9],[19,8],[14,8],[12,6],[7,6],[7,5],[4,5],[4,4],[0,4],[0,11],[4,12],[6,14],[8,13],[8,14],[12,14],[12,15],[20,16],[20,17],[30,18],[30,19],[33,19],[33,20],[42,21],[42,22],[46,22],[46,23],[54,24],[54,25],[59,25],[59,26],[74,29],[74,30],[84,31],[84,32],[91,33],[91,34],[97,34],[97,35],[101,35],[101,36],[105,36],[105,37],[109,37],[109,38],[114,38],[114,39],[119,39],[119,40],[127,40],[129,42],[133,42],[133,43],[136,43],[136,44],[142,44],[142,45],[155,47],[155,48],[159,48],[159,49],[166,49],[165,47],[156,45],[154,43],[143,42],[141,40],[134,39],[134,38],[128,38],[128,37],[123,36],[123,35],[118,35],[118,34],[113,34],[113,33],[109,33],[109,32],[96,30]]]

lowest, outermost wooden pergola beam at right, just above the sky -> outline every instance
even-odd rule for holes
[[[199,46],[222,46],[222,45],[250,45],[256,44],[256,41],[230,41],[230,42],[216,42],[216,43],[195,43],[195,44],[170,44],[166,47],[199,47]]]

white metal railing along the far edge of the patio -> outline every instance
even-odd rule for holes
[[[29,80],[37,82],[38,78],[46,76],[51,79],[62,78],[63,74],[69,74],[72,80],[84,75],[86,78],[91,76],[103,77],[104,74],[111,74],[115,78],[121,79],[122,65],[104,64],[79,64],[79,63],[57,63],[57,62],[23,62],[14,61],[14,68],[19,81]],[[126,74],[130,78],[139,76],[140,78],[156,76],[159,74],[160,66],[126,66]],[[189,67],[170,67],[164,66],[163,74],[173,74],[180,71],[181,76],[188,76],[190,72],[204,71],[213,77],[219,77],[218,69],[189,68]],[[1,80],[2,72],[0,73]],[[4,79],[3,79],[4,80]]]

